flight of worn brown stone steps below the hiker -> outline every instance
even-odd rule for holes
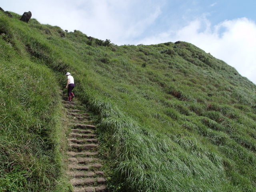
[[[106,179],[98,155],[96,127],[90,124],[87,113],[77,110],[76,102],[63,101],[68,110],[71,133],[68,136],[69,150],[67,174],[73,192],[108,192]]]

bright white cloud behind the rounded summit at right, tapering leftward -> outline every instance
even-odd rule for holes
[[[169,30],[137,44],[186,41],[233,66],[256,84],[256,24],[247,18],[226,20],[211,27],[207,19],[191,21],[177,31]]]

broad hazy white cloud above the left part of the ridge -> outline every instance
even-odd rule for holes
[[[132,38],[145,32],[161,14],[166,0],[8,0],[6,10],[23,14],[30,10],[41,24],[60,26],[63,30],[80,30],[88,36],[115,44],[131,44]]]

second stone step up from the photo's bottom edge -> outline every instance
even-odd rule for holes
[[[106,179],[103,177],[97,177],[97,178],[74,178],[70,180],[71,184],[73,186],[93,186],[96,184],[105,184]]]

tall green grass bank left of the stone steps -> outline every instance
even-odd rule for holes
[[[13,25],[1,15],[0,190],[54,191],[62,165],[59,86],[49,68],[27,57],[22,23]]]

